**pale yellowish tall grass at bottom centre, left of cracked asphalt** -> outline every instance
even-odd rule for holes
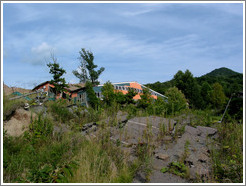
[[[69,179],[71,183],[132,182],[134,169],[127,163],[127,155],[110,142],[85,140],[75,159],[79,168]]]

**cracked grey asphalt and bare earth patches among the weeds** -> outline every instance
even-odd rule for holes
[[[4,122],[8,135],[20,136],[28,129],[32,117],[45,109],[35,107],[31,111],[17,109],[10,120]],[[186,183],[206,182],[210,179],[212,162],[210,145],[217,137],[217,129],[210,127],[189,126],[189,119],[167,119],[157,116],[128,118],[127,114],[119,112],[113,118],[85,124],[81,134],[90,137],[99,135],[99,125],[108,124],[110,139],[119,143],[123,150],[129,153],[129,161],[136,159],[136,147],[148,144],[153,147],[150,156],[150,174],[139,170],[134,183]],[[66,125],[54,127],[54,132],[68,131]],[[177,176],[161,169],[169,167],[172,162],[184,162],[188,167],[187,175]]]

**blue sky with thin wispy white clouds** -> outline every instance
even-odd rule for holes
[[[186,69],[242,73],[243,4],[3,4],[5,84],[33,88],[50,80],[51,52],[67,82],[77,83],[72,70],[81,48],[105,67],[101,83],[164,82]]]

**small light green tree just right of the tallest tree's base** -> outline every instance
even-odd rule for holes
[[[115,101],[114,86],[110,81],[107,81],[102,87],[103,102],[111,106]]]

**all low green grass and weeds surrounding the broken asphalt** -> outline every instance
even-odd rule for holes
[[[14,111],[24,100],[6,99],[4,95],[4,114]],[[119,105],[99,107],[98,109],[78,107],[69,111],[67,103],[59,100],[47,102],[48,116],[39,116],[29,126],[29,130],[20,137],[10,137],[4,133],[3,140],[3,180],[4,182],[76,182],[76,183],[129,183],[139,169],[146,173],[148,181],[151,173],[151,157],[154,146],[150,125],[144,131],[143,139],[135,149],[136,161],[130,163],[129,156],[121,149],[118,142],[110,139],[110,126],[116,124]],[[135,105],[123,108],[134,116],[156,114],[138,109]],[[211,110],[190,110],[179,114],[191,116],[192,126],[213,126],[218,128],[219,148],[211,150],[213,159],[213,179],[216,182],[242,182],[243,180],[243,126],[236,122],[216,124],[220,119]],[[169,117],[166,112],[161,116]],[[6,119],[6,116],[4,116]],[[98,122],[111,117],[109,123]],[[98,122],[99,133],[95,139],[86,139],[80,134],[85,123]],[[181,121],[180,121],[181,122]],[[68,133],[55,133],[53,128],[61,123],[70,126]],[[161,134],[168,129],[161,127]],[[185,125],[177,125],[175,137],[182,135]],[[190,153],[189,142],[184,148],[183,160]],[[180,162],[172,162],[163,168],[163,173],[170,172],[187,178],[188,168]]]

